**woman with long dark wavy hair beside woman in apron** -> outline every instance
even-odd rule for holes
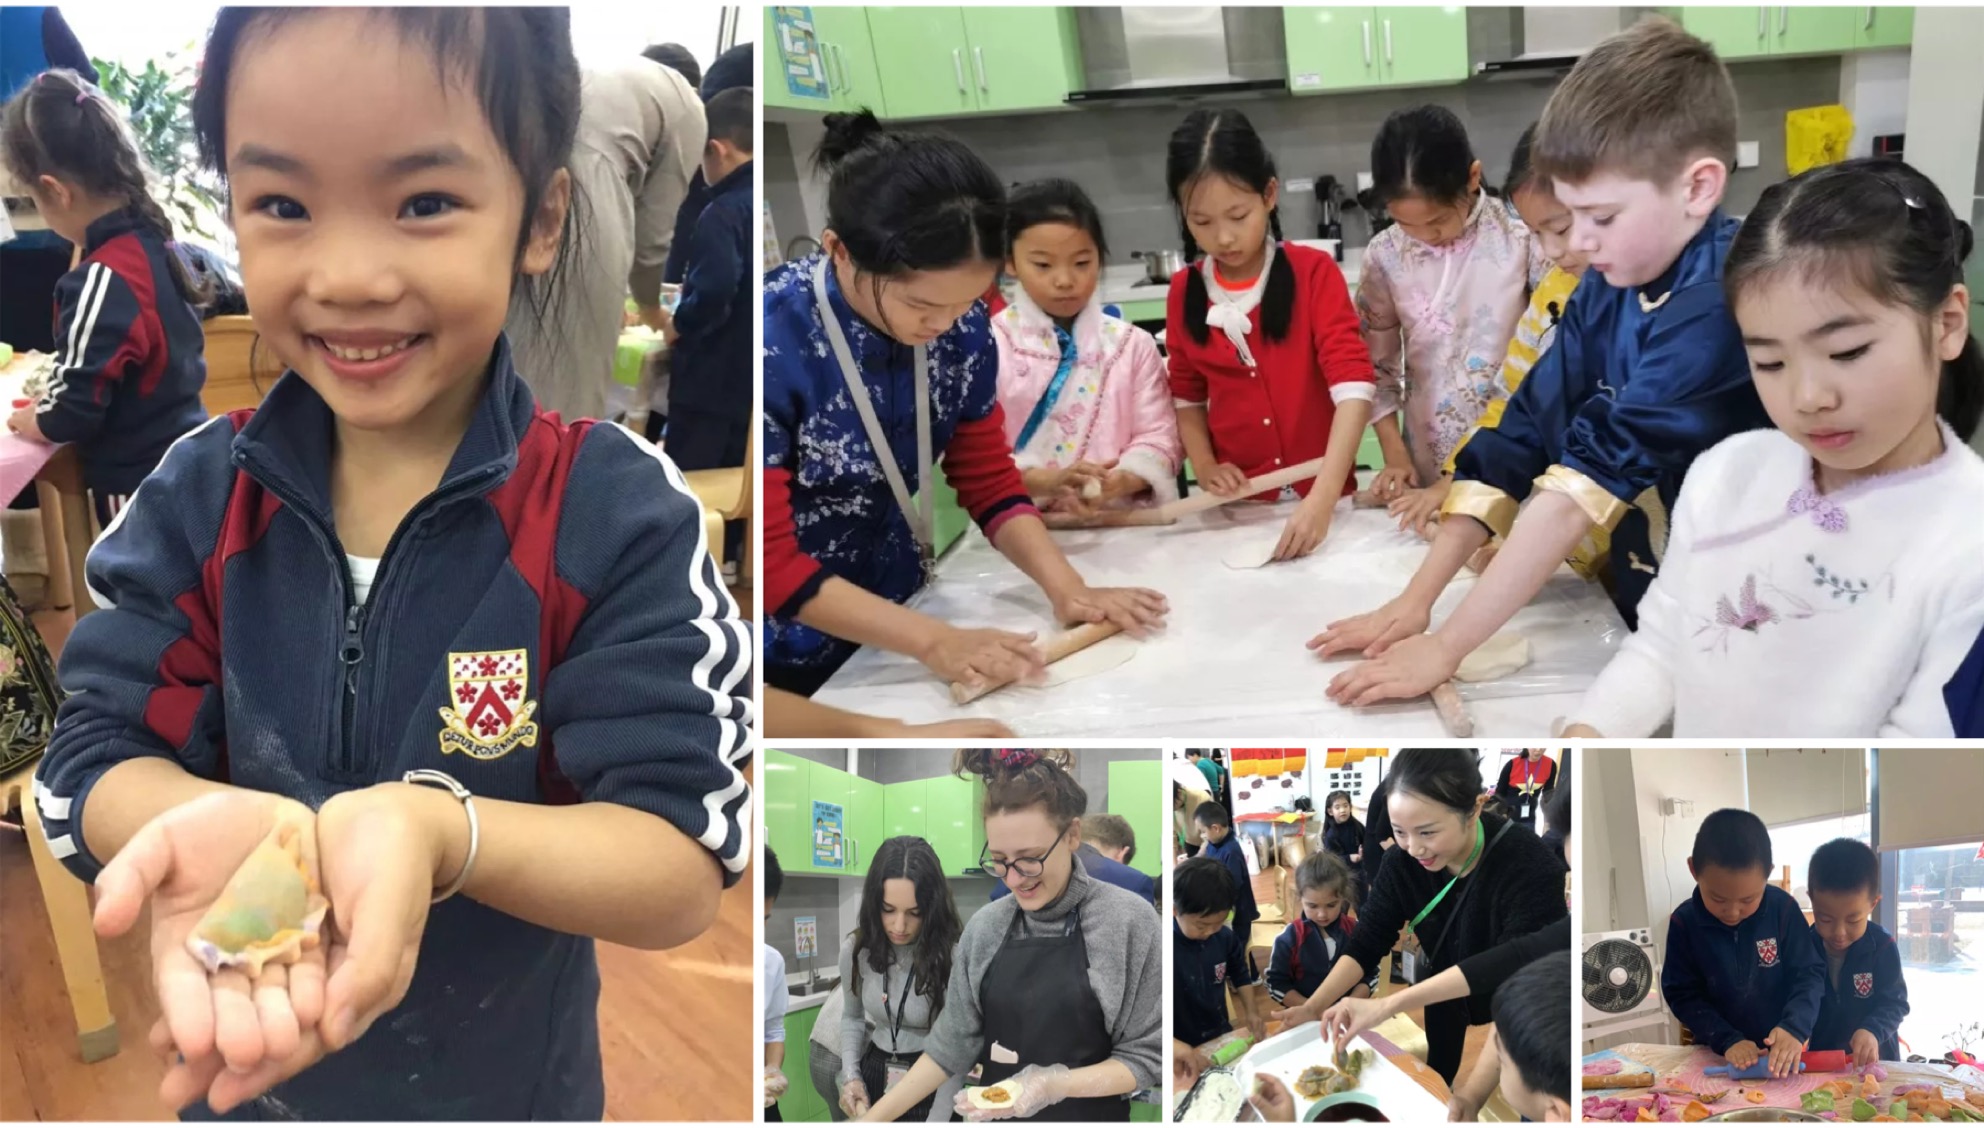
[[[861,886],[855,932],[841,946],[841,1112],[867,1112],[923,1055],[930,1023],[944,1011],[960,932],[936,850],[909,835],[883,843]],[[950,1120],[950,1102],[936,1098],[956,1088],[925,1094],[901,1118]]]

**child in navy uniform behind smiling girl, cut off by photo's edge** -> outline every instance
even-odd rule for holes
[[[702,145],[702,176],[710,184],[690,234],[682,299],[665,321],[675,345],[669,361],[669,458],[681,470],[744,466],[752,426],[752,319],[758,315],[758,272],[752,242],[758,210],[752,202],[752,91],[726,89],[704,105],[710,135]],[[736,579],[744,521],[724,527],[724,579]]]

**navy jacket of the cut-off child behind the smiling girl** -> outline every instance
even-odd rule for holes
[[[758,272],[750,161],[710,188],[688,248],[669,357],[669,458],[682,470],[744,466],[750,438]]]

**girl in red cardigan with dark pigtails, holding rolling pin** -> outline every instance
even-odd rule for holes
[[[1198,252],[1171,280],[1165,309],[1184,454],[1198,484],[1224,498],[1258,474],[1325,458],[1321,474],[1280,494],[1302,506],[1274,559],[1303,557],[1351,490],[1377,393],[1349,285],[1327,254],[1282,242],[1274,157],[1244,113],[1192,111],[1171,135],[1165,180],[1184,254]]]

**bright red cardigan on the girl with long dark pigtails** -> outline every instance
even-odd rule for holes
[[[1224,331],[1208,325],[1206,339],[1194,341],[1186,329],[1184,272],[1200,266],[1175,274],[1165,301],[1173,400],[1177,406],[1206,408],[1212,452],[1248,478],[1321,458],[1337,404],[1377,395],[1371,351],[1357,331],[1357,309],[1337,262],[1296,244],[1280,244],[1274,254],[1286,258],[1296,274],[1296,301],[1288,335],[1280,341],[1262,333],[1260,309],[1250,315],[1252,329],[1244,339],[1254,365],[1242,359]],[[1196,470],[1206,474],[1212,468]],[[1343,480],[1345,494],[1355,490],[1351,478]],[[1305,478],[1294,490],[1307,498],[1313,484]],[[1278,496],[1268,492],[1260,498]]]

